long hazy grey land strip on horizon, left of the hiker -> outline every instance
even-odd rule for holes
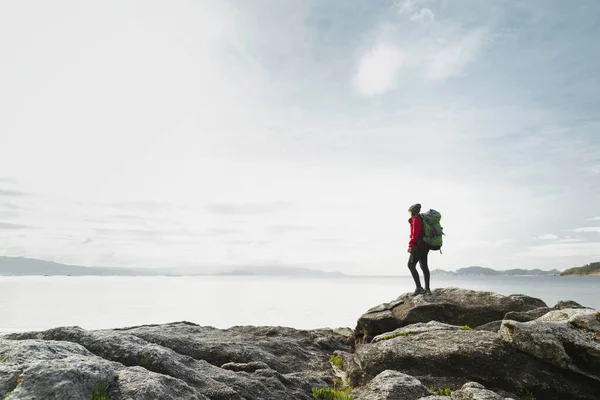
[[[255,267],[248,266],[233,270],[223,268],[219,272],[202,272],[178,268],[118,268],[85,267],[66,265],[53,261],[25,257],[0,256],[0,276],[305,276],[341,277],[341,272],[318,271],[302,267]]]

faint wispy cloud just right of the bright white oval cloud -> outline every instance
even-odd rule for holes
[[[488,33],[480,29],[443,45],[429,60],[427,78],[440,80],[461,74],[463,69],[477,58],[487,43]]]

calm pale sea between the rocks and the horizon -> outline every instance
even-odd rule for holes
[[[432,287],[524,293],[549,306],[575,300],[600,309],[600,277],[432,277]],[[354,328],[367,309],[413,290],[409,276],[2,277],[0,331],[86,329],[191,321],[227,328]]]

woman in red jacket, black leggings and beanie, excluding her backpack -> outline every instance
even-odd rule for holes
[[[408,223],[410,224],[410,241],[408,242],[408,252],[410,257],[408,258],[408,269],[415,280],[417,288],[414,294],[431,294],[429,289],[429,267],[427,266],[427,255],[429,254],[429,248],[423,242],[423,220],[419,215],[421,211],[420,204],[413,204],[408,209],[410,218]],[[417,272],[417,262],[423,271],[423,277],[425,278],[425,289],[421,286],[421,280],[419,279],[419,273]]]

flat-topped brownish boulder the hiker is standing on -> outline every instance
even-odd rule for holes
[[[468,289],[436,289],[431,295],[403,294],[395,301],[368,310],[359,318],[355,335],[359,343],[367,343],[379,334],[429,321],[477,327],[500,321],[511,311],[540,307],[547,306],[540,299],[521,294],[503,296]]]

